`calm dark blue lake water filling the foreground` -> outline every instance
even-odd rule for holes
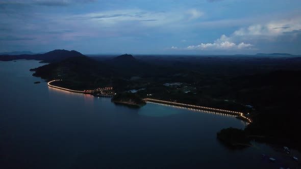
[[[225,148],[216,132],[244,128],[230,116],[48,88],[38,61],[0,62],[0,168],[276,168],[264,144]]]

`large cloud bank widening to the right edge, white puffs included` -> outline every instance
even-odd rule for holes
[[[213,43],[200,43],[186,47],[190,50],[246,50],[254,46],[270,46],[291,48],[301,41],[301,17],[251,24],[234,31],[230,36],[222,35]],[[273,44],[273,45],[271,45]],[[264,49],[262,49],[264,50]]]

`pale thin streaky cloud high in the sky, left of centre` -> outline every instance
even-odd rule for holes
[[[195,14],[194,17],[196,17]],[[172,23],[179,23],[184,21],[185,15],[179,12],[152,12],[141,9],[127,9],[127,10],[109,10],[95,13],[86,13],[80,15],[73,15],[66,18],[69,21],[82,20],[83,22],[90,22],[89,24],[99,27],[113,27],[120,24],[135,24],[131,26],[136,29],[139,26],[159,26],[172,25]],[[130,27],[128,27],[130,29]],[[174,29],[174,24],[173,24]]]

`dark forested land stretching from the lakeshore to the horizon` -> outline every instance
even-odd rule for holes
[[[31,71],[34,71],[34,76],[47,81],[62,79],[53,83],[56,86],[96,91],[96,95],[100,95],[103,89],[112,89],[110,92],[117,94],[136,91],[135,96],[140,99],[211,107],[213,111],[242,112],[243,116],[253,120],[244,130],[247,135],[264,135],[281,143],[289,139],[287,144],[291,144],[290,147],[300,146],[300,139],[292,130],[299,128],[300,118],[298,100],[295,99],[301,95],[299,56],[134,57],[123,54],[95,57],[77,51],[54,50],[47,53],[43,55],[44,59],[37,58],[37,55],[29,56],[28,59],[34,57],[51,62]],[[0,60],[8,60],[7,57],[0,56]],[[140,105],[140,102],[130,99],[119,98],[115,102],[118,101]]]

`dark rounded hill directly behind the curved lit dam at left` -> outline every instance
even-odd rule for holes
[[[47,80],[63,79],[69,89],[95,89],[109,86],[111,77],[118,75],[110,66],[88,57],[70,57],[35,69],[33,76]]]

